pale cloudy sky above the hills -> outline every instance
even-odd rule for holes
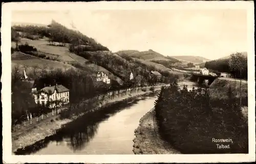
[[[164,56],[210,60],[247,51],[246,10],[13,11],[12,22],[52,19],[94,38],[111,51],[153,49]]]

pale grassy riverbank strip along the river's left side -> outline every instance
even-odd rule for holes
[[[148,90],[148,89],[147,89]],[[161,90],[161,86],[156,86],[155,91]],[[127,95],[124,95],[122,97],[118,97],[118,95],[114,99],[105,99],[102,101],[100,105],[98,105],[96,108],[90,110],[90,112],[94,112],[98,110],[100,107],[105,105],[111,105],[113,103],[117,103],[124,100],[129,100],[131,98],[140,97],[143,95],[147,95],[152,93],[151,91],[139,91],[139,92],[133,92],[129,93]],[[84,113],[86,114],[86,113]],[[83,114],[83,115],[84,115]],[[80,115],[79,117],[81,117]],[[29,145],[33,145],[34,143],[44,140],[47,136],[53,135],[56,133],[56,130],[60,129],[61,127],[65,126],[66,124],[76,120],[79,117],[74,117],[72,119],[62,119],[60,120],[58,118],[59,116],[56,116],[54,119],[51,118],[51,121],[45,121],[40,122],[37,125],[35,125],[32,129],[28,129],[27,131],[23,131],[22,134],[16,135],[13,137],[12,135],[12,152],[15,152],[19,148],[27,147]]]

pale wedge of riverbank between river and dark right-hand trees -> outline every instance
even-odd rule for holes
[[[180,154],[179,151],[161,139],[154,108],[140,119],[133,142],[134,154]]]

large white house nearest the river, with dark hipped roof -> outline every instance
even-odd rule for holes
[[[69,89],[62,85],[44,87],[38,91],[36,88],[32,88],[32,94],[36,104],[50,108],[69,103]]]

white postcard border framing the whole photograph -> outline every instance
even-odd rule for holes
[[[92,2],[92,3],[5,3],[2,4],[2,106],[3,106],[3,161],[17,162],[87,162],[87,163],[141,163],[141,162],[245,162],[255,161],[255,77],[254,77],[254,6],[253,2]],[[248,124],[249,154],[173,154],[173,155],[12,155],[11,153],[11,11],[13,10],[139,10],[139,9],[245,9],[248,39]],[[7,55],[6,55],[7,54]]]

